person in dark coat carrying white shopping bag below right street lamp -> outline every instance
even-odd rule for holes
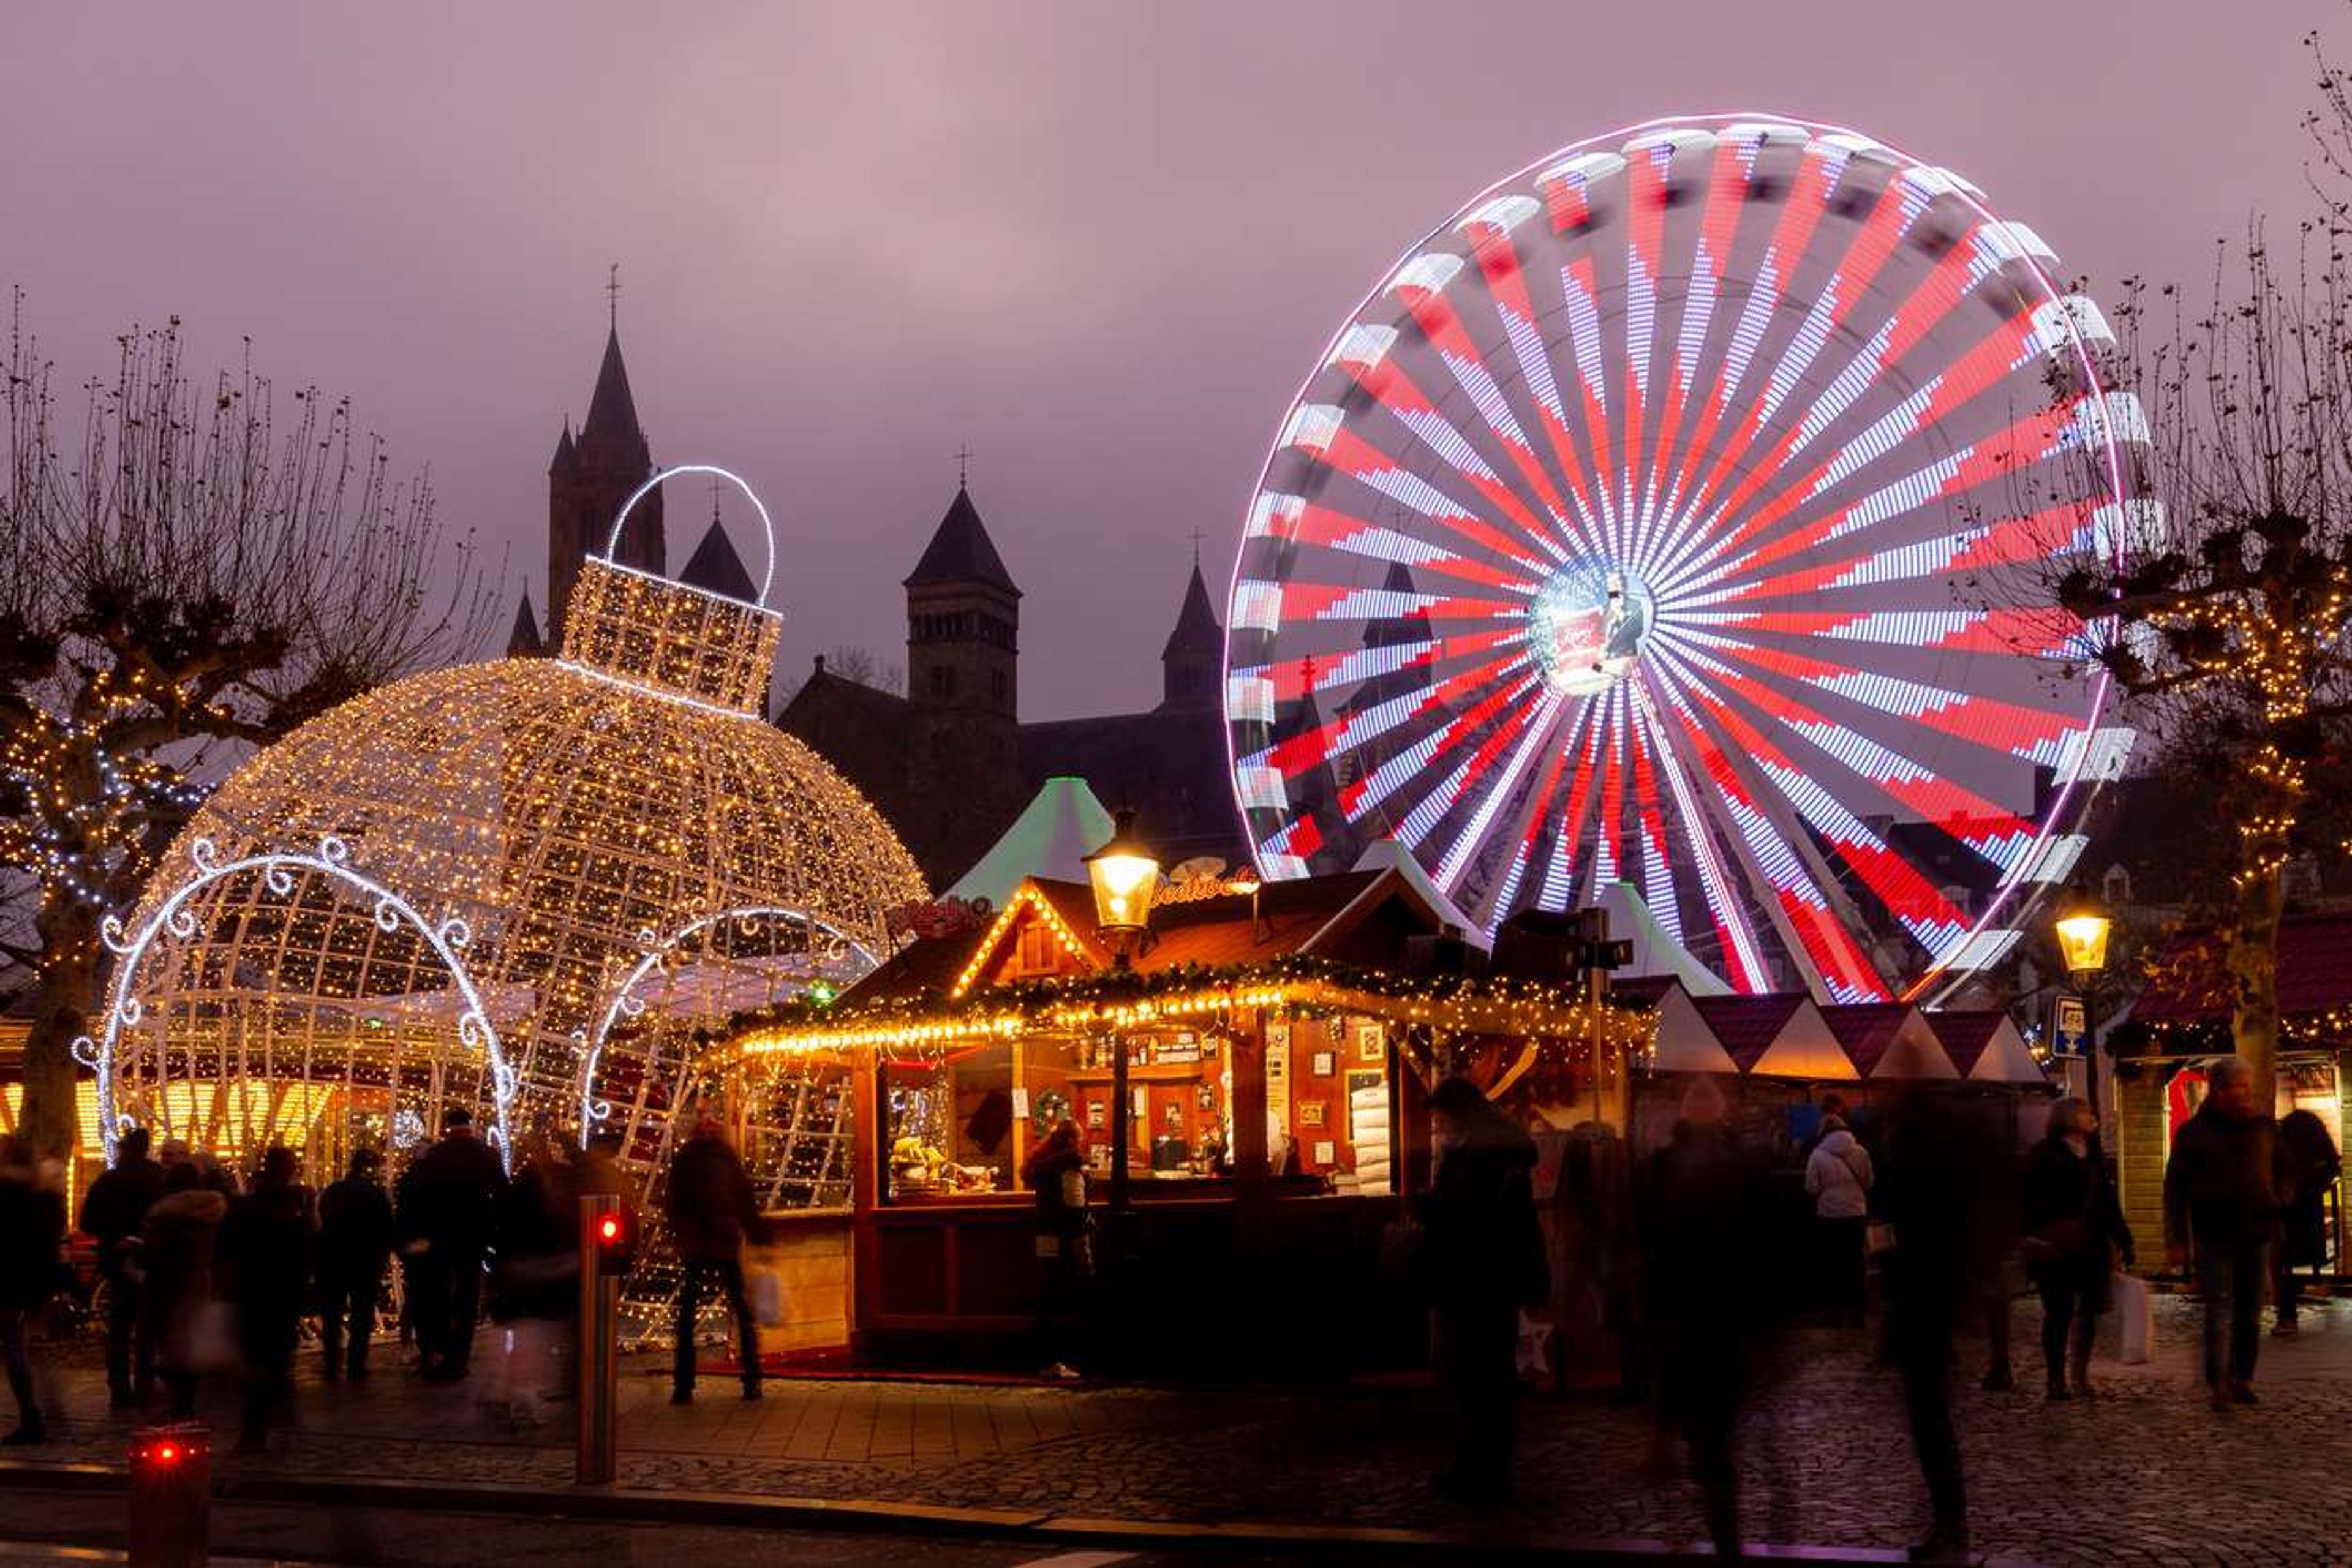
[[[2091,1342],[2114,1265],[2131,1262],[2131,1227],[2086,1100],[2051,1105],[2049,1131],[2025,1157],[2025,1258],[2042,1295],[2049,1396],[2089,1399]]]

